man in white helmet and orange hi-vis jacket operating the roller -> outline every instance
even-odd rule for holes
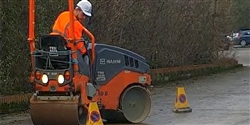
[[[88,56],[87,50],[84,45],[84,40],[83,38],[83,28],[84,26],[81,24],[87,17],[91,17],[92,14],[92,4],[88,0],[81,0],[77,3],[75,9],[74,9],[74,35],[75,35],[75,40],[80,41],[76,43],[76,49],[78,50],[78,62],[79,62],[79,68],[80,70],[84,72],[83,74],[88,75],[89,71],[86,72],[86,69],[89,69],[88,67]],[[60,34],[62,35],[65,39],[69,37],[69,11],[64,11],[58,15],[56,18],[54,24],[53,24],[53,29],[50,34]],[[68,44],[66,44],[67,47]],[[82,56],[81,56],[82,55]],[[84,60],[80,57],[83,57]],[[83,64],[85,63],[85,64]],[[80,71],[81,72],[81,71]],[[86,74],[87,73],[87,74]]]

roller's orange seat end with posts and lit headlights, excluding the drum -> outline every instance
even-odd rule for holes
[[[70,35],[68,39],[64,39],[60,35],[42,35],[39,39],[38,48],[35,48],[35,0],[29,0],[29,29],[28,43],[31,53],[32,72],[30,82],[34,84],[36,92],[51,92],[67,94],[85,91],[84,87],[89,78],[79,73],[77,64],[76,48],[74,46],[74,1],[68,0],[68,9],[70,12]],[[90,38],[91,52],[90,65],[93,64],[95,57],[95,38],[84,28],[84,33]],[[68,42],[71,50],[64,48],[64,43]],[[81,82],[79,82],[81,81]],[[84,86],[84,87],[82,87]],[[83,90],[81,90],[81,88]],[[37,93],[38,94],[38,93]],[[86,96],[82,96],[86,97]],[[88,103],[88,99],[82,100]]]

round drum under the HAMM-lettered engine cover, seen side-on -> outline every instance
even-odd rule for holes
[[[120,108],[128,122],[142,122],[151,110],[149,91],[141,86],[128,87],[120,98]]]

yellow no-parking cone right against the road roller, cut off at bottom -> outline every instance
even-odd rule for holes
[[[101,114],[96,102],[91,101],[89,103],[86,125],[103,125]]]

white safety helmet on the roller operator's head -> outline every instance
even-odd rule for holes
[[[91,17],[92,5],[88,0],[81,0],[77,3],[77,7],[81,8],[82,12]]]

